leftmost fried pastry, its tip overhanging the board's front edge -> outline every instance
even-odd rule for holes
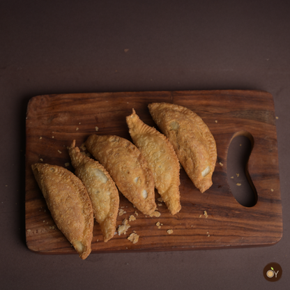
[[[56,226],[79,257],[86,259],[93,238],[93,208],[82,181],[56,165],[36,163],[31,167]]]

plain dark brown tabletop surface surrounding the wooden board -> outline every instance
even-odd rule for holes
[[[0,288],[287,289],[289,1],[5,2],[0,3]],[[277,245],[91,254],[85,261],[27,249],[24,151],[30,98],[201,89],[273,95],[284,227]],[[263,276],[270,262],[282,266],[278,282]]]

